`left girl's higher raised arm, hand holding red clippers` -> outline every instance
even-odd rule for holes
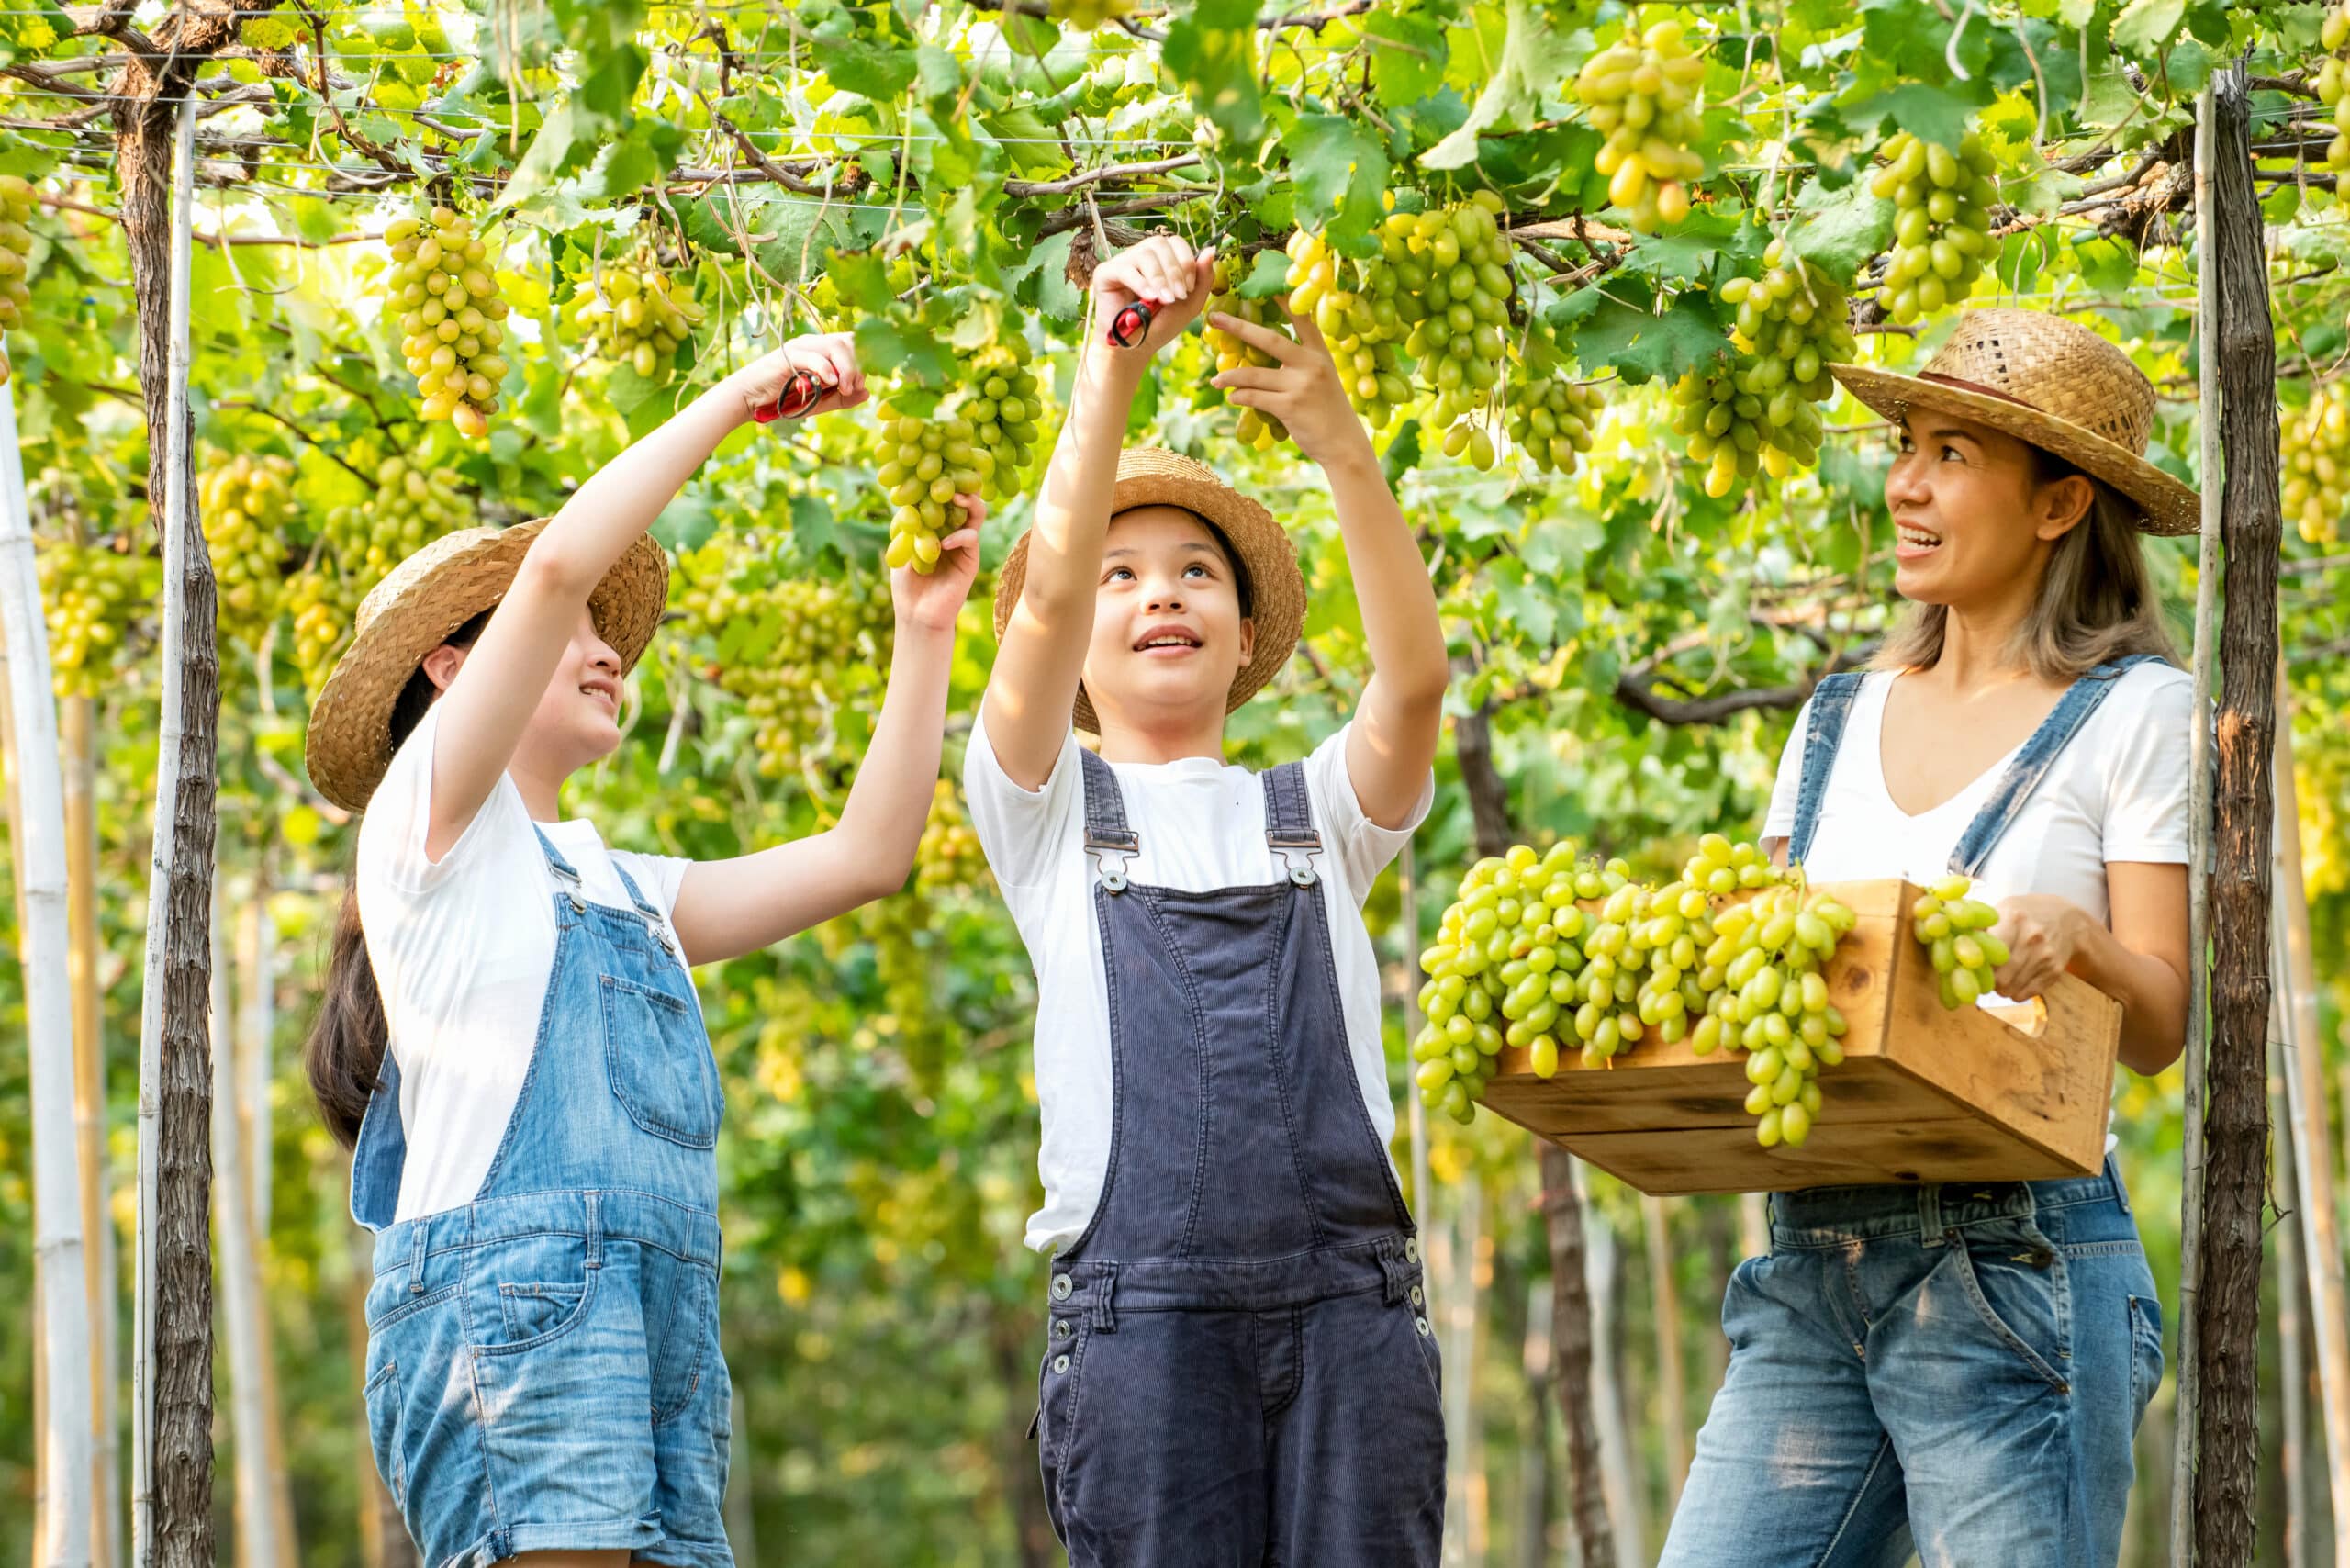
[[[653,517],[677,498],[703,458],[754,407],[771,402],[797,369],[813,371],[834,388],[815,409],[865,402],[865,376],[851,339],[792,339],[712,386],[590,475],[531,541],[515,583],[439,698],[428,856],[439,858],[458,842],[505,773],[595,585],[653,527]]]

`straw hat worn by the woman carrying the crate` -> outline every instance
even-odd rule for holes
[[[1854,397],[1894,421],[1939,409],[2054,451],[2138,505],[2148,534],[2197,534],[2202,498],[2146,461],[2155,386],[2120,348],[2040,310],[1969,310],[1915,376],[1835,364]]]

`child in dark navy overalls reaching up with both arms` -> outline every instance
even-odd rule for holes
[[[1434,1566],[1436,1340],[1361,907],[1429,809],[1445,639],[1321,334],[1217,317],[1276,362],[1217,386],[1330,480],[1372,661],[1311,757],[1224,764],[1224,717],[1297,644],[1297,555],[1206,465],[1121,456],[1208,273],[1170,237],[1095,273],[1102,320],[1137,299],[1156,320],[1083,350],[966,757],[1036,964],[1027,1239],[1058,1255],[1034,1436],[1076,1568]]]

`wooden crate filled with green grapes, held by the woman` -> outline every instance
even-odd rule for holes
[[[1859,922],[1824,971],[1849,1032],[1845,1060],[1819,1072],[1826,1105],[1800,1150],[1755,1143],[1744,1053],[1697,1056],[1654,1032],[1605,1067],[1560,1051],[1551,1079],[1504,1051],[1485,1105],[1652,1194],[2037,1180],[2103,1164],[2120,1001],[2066,976],[2044,1006],[1946,1011],[1908,933],[1922,889],[1817,891]]]

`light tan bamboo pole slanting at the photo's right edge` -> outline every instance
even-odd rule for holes
[[[2317,964],[2310,952],[2310,898],[2301,875],[2301,811],[2294,780],[2294,722],[2277,670],[2275,750],[2275,950],[2277,1032],[2284,1060],[2284,1140],[2301,1178],[2301,1253],[2308,1262],[2310,1328],[2317,1347],[2317,1403],[2326,1429],[2326,1488],[2334,1497],[2331,1561],[2350,1563],[2350,1291],[2334,1208],[2334,1150],[2326,1147],[2324,1034],[2317,1027]],[[2289,1227],[2287,1227],[2289,1229]]]

